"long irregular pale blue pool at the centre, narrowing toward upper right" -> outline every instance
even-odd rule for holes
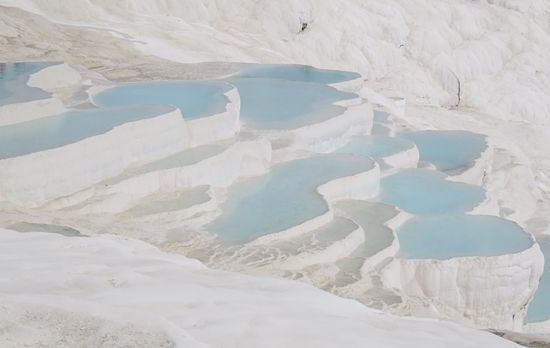
[[[249,241],[299,225],[328,211],[316,188],[373,168],[366,157],[334,154],[276,165],[229,189],[222,215],[206,226],[227,241]]]

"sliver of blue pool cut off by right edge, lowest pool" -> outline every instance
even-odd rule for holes
[[[533,301],[529,304],[525,317],[527,323],[550,320],[550,236],[541,236],[537,242],[544,253],[544,273]]]

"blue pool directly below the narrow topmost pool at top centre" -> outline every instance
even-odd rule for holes
[[[308,82],[230,78],[241,95],[241,120],[258,129],[292,129],[327,120],[345,111],[332,103],[353,93]]]

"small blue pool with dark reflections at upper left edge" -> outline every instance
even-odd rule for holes
[[[0,106],[46,99],[50,94],[27,85],[29,76],[59,63],[0,63]]]

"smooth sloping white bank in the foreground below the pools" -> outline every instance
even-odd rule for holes
[[[309,285],[210,270],[108,235],[0,230],[0,262],[5,348],[518,347],[451,323],[389,316]]]

